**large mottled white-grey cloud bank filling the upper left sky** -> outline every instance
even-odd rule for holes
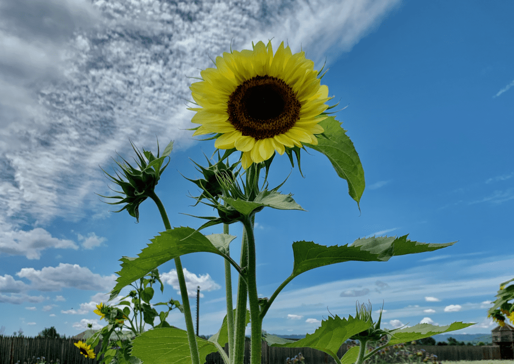
[[[276,50],[284,40],[318,57],[320,69],[400,3],[0,2],[0,254],[40,259],[45,249],[78,249],[44,229],[58,217],[106,217],[93,193],[111,193],[98,166],[115,150],[132,153],[129,137],[140,150],[154,151],[156,133],[169,138],[161,145],[174,139],[175,150],[195,144],[185,130],[194,115],[183,104],[187,76],[212,66],[208,56],[231,40],[238,50],[273,37]],[[32,217],[40,230],[23,231]],[[84,249],[103,239],[79,236]]]

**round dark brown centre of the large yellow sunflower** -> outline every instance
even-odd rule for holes
[[[300,101],[283,80],[255,76],[237,86],[228,100],[228,121],[255,140],[287,132],[300,119]]]

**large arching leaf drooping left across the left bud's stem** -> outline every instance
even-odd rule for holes
[[[116,279],[116,286],[111,292],[113,299],[121,288],[144,277],[148,272],[171,259],[197,251],[206,251],[218,254],[227,259],[238,271],[241,268],[226,255],[227,247],[235,236],[226,234],[212,234],[205,236],[190,227],[178,227],[159,232],[159,236],[150,239],[151,243],[144,248],[138,258],[123,257],[120,259],[121,270],[116,272],[120,277]]]

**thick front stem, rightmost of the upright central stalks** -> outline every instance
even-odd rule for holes
[[[246,235],[248,236],[248,299],[250,301],[251,320],[251,346],[250,364],[261,364],[262,354],[262,319],[260,317],[259,298],[257,295],[256,266],[255,266],[255,238],[253,235],[253,222],[255,215],[244,219]]]

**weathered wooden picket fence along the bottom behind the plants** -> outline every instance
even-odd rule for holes
[[[94,349],[95,359],[85,358],[80,354],[79,349],[74,345],[76,339],[41,339],[23,337],[2,337],[0,336],[0,364],[16,364],[20,360],[23,364],[27,359],[45,357],[46,362],[56,362],[59,359],[61,364],[97,364],[98,353],[101,349],[101,341]],[[337,352],[340,358],[347,351],[347,344],[342,344]],[[458,360],[492,360],[500,359],[500,347],[498,345],[408,345],[407,350],[414,353],[418,350],[425,350],[429,354],[437,355],[438,361]],[[391,348],[391,350],[393,350]],[[228,354],[228,343],[225,345],[225,352]],[[335,364],[335,360],[328,354],[311,348],[276,348],[268,347],[262,342],[262,364],[285,364],[286,359],[293,358],[298,353],[305,357],[306,364]],[[100,356],[100,360],[103,356]],[[28,361],[27,361],[28,362]],[[32,361],[34,362],[34,361]],[[211,353],[206,357],[207,364],[224,364],[218,352]],[[250,363],[250,342],[245,342],[245,356],[243,364]]]

